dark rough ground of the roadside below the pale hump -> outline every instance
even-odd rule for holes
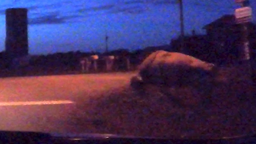
[[[255,86],[237,77],[234,68],[221,69],[218,76],[218,81],[182,87],[120,85],[102,97],[81,99],[77,106],[83,119],[74,124],[86,125],[80,132],[168,138],[256,131]]]

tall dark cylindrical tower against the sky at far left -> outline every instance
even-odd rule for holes
[[[28,55],[28,10],[11,8],[5,11],[5,51],[10,59]]]

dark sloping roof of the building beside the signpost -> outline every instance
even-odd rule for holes
[[[254,25],[254,23],[249,22],[250,25]],[[220,17],[219,19],[205,25],[203,29],[209,29],[209,28],[217,28],[217,27],[230,27],[234,25],[239,25],[236,23],[236,18],[234,14],[226,14]]]

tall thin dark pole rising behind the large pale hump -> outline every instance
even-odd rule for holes
[[[184,50],[184,19],[183,19],[183,2],[182,0],[179,1],[179,7],[180,7],[180,40],[181,40],[181,45],[180,45],[180,52],[182,53]]]

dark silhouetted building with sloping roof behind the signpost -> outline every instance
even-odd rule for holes
[[[256,25],[248,22],[247,26],[250,47],[253,52],[256,41]],[[236,23],[235,15],[223,15],[221,18],[205,25],[203,29],[206,30],[209,41],[215,45],[217,51],[233,53],[238,57],[237,54],[242,45],[242,25]],[[226,57],[226,54],[223,57]]]

